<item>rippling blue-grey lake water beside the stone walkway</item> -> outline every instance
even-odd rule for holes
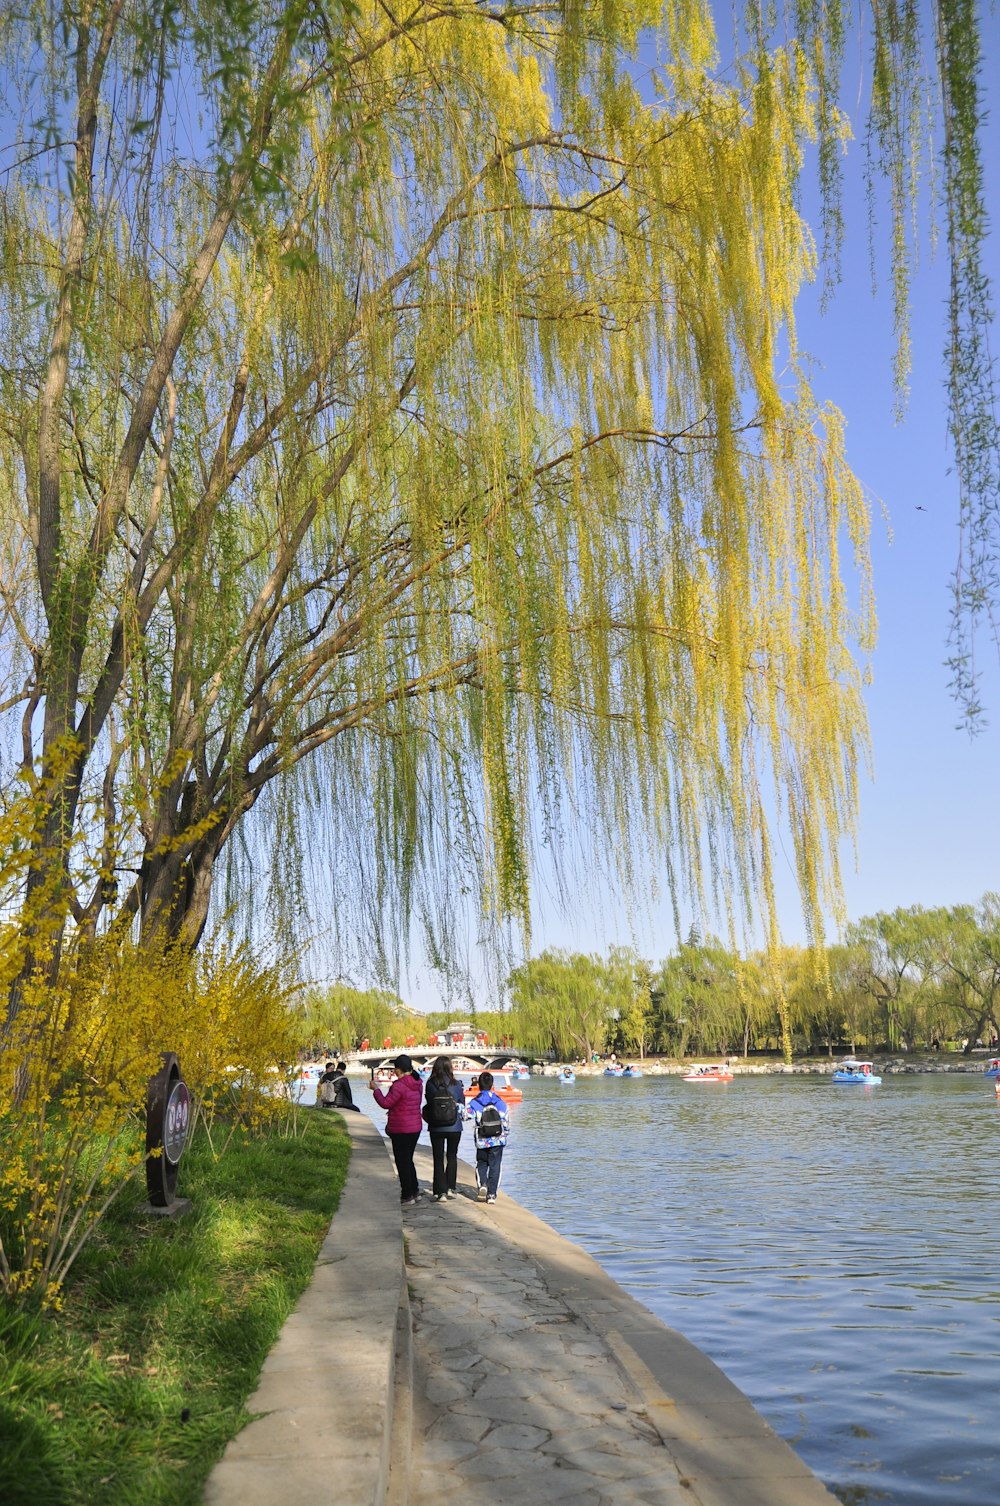
[[[709,1354],[842,1501],[995,1506],[991,1080],[520,1086],[503,1191]]]

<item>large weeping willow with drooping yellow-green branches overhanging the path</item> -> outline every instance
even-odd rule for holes
[[[911,8],[872,15],[905,330],[923,51]],[[967,285],[974,15],[941,15]],[[794,23],[723,71],[679,0],[5,11],[20,977],[69,934],[196,943],[221,872],[295,911],[324,863],[358,932],[446,952],[470,896],[527,925],[577,828],[625,883],[773,919],[780,821],[807,916],[836,902],[867,523],[794,310],[812,158],[827,259],[840,233],[852,23]]]

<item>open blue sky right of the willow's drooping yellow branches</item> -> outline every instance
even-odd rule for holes
[[[982,8],[988,11],[986,6]],[[986,200],[992,221],[1000,206],[1000,17],[983,21],[994,60],[986,105]],[[991,69],[983,71],[988,86]],[[857,155],[857,151],[855,151]],[[815,306],[801,337],[822,369],[816,390],[848,419],[854,470],[880,498],[887,521],[873,514],[872,559],[880,634],[867,694],[873,782],[861,789],[857,870],[845,854],[851,917],[896,905],[938,905],[979,899],[1000,887],[1000,672],[983,657],[986,727],[979,736],[958,729],[958,708],[944,666],[949,578],[958,557],[958,492],[950,471],[941,351],[944,346],[944,259],[929,259],[913,288],[913,383],[905,422],[893,422],[893,336],[887,300],[872,300],[857,182],[845,282],[825,318]],[[860,233],[858,233],[860,232]],[[1000,291],[995,232],[986,267],[994,300]],[[985,646],[983,646],[985,648]],[[782,904],[788,940],[801,940],[792,887]]]

